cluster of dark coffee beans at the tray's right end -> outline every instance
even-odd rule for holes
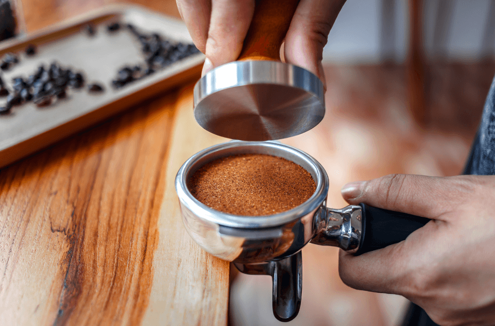
[[[118,71],[117,77],[112,81],[114,88],[120,88],[131,82],[138,81],[152,75],[157,70],[168,67],[178,60],[199,52],[194,44],[172,43],[157,33],[140,33],[131,24],[127,24],[126,27],[141,43],[145,63],[142,65],[122,67]]]

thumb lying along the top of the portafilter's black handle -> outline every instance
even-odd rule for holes
[[[472,198],[475,184],[470,176],[430,177],[391,174],[342,187],[349,204],[371,206],[432,219],[445,219],[456,207]]]

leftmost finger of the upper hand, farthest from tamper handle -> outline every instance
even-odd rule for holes
[[[177,8],[199,51],[205,52],[211,15],[211,0],[177,0]]]

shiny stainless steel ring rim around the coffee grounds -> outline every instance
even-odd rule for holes
[[[187,178],[191,173],[207,162],[240,153],[262,153],[280,156],[301,165],[315,180],[315,193],[305,203],[293,209],[265,216],[227,214],[200,203],[191,195],[187,188]],[[308,154],[292,146],[278,142],[230,141],[206,148],[187,160],[177,172],[175,189],[182,204],[205,221],[233,228],[259,229],[284,225],[314,211],[325,201],[328,193],[328,183],[328,175],[323,166]]]

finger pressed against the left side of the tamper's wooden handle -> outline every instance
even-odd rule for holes
[[[212,0],[203,75],[236,60],[254,12],[254,0]]]

